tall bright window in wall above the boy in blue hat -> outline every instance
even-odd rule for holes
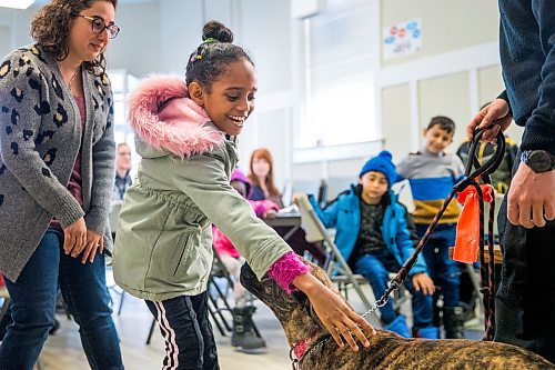
[[[371,50],[371,1],[327,0],[324,12],[304,20],[305,121],[296,148],[380,139]]]

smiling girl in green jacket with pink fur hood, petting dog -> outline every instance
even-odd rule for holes
[[[373,328],[324,287],[230,186],[236,136],[254,109],[254,64],[233,33],[204,26],[186,81],[153,77],[130,96],[129,119],[142,160],[120,213],[115,281],[147,301],[165,340],[164,366],[218,369],[208,318],[213,222],[255,271],[285,292],[306,293],[340,347],[353,350]]]

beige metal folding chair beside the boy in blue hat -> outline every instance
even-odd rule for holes
[[[324,270],[330,279],[340,287],[340,290],[343,291],[343,294],[347,300],[349,297],[346,294],[346,287],[347,284],[351,286],[356,294],[359,294],[365,310],[370,310],[373,303],[367,299],[361,288],[361,284],[370,284],[369,281],[363,276],[353,273],[343,256],[341,256],[337,246],[335,246],[335,242],[330,237],[324,224],[314,212],[314,208],[310,203],[309,197],[306,194],[301,196],[297,204],[304,231],[306,233],[306,241],[322,241],[329,251],[330,257],[326,266],[324,266]],[[371,323],[375,327],[381,327],[376,312],[373,312]]]

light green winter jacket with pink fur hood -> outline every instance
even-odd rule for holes
[[[121,209],[113,272],[123,290],[151,301],[205,291],[212,222],[259,279],[291,252],[230,186],[235,138],[226,138],[185,94],[184,81],[154,77],[129,100],[142,160]]]

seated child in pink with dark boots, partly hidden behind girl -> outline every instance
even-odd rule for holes
[[[246,198],[251,189],[251,181],[244,173],[235,168],[231,174],[231,186],[243,197]],[[254,212],[260,218],[272,217],[280,209],[271,200],[249,200]],[[230,276],[233,278],[233,294],[235,298],[235,308],[233,309],[233,332],[231,334],[231,346],[241,347],[242,349],[258,349],[265,347],[262,338],[256,336],[253,330],[252,318],[255,308],[253,306],[245,306],[245,289],[239,280],[241,267],[244,263],[244,258],[241,257],[239,251],[233,247],[228,237],[221,232],[215,226],[212,226],[213,246],[218,256],[228,269]]]

